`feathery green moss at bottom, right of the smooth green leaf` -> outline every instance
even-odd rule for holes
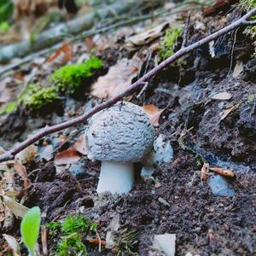
[[[90,232],[96,233],[96,226],[96,222],[90,221],[90,218],[81,214],[46,224],[51,236],[61,236],[61,241],[55,247],[55,255],[87,255],[83,240]]]

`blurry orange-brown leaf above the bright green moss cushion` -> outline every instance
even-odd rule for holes
[[[61,44],[59,49],[56,49],[53,55],[49,55],[47,58],[47,63],[51,65],[62,66],[67,64],[73,57],[73,45],[69,44],[67,41]]]

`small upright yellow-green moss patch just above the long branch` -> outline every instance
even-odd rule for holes
[[[174,54],[175,43],[182,32],[183,29],[181,27],[171,27],[166,31],[165,37],[160,41],[160,61],[164,61]]]

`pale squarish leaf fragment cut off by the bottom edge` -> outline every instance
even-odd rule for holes
[[[166,256],[175,255],[175,242],[176,234],[163,234],[154,235],[154,245],[153,247],[160,251],[160,253],[165,253]]]

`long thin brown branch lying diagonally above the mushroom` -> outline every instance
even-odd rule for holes
[[[131,84],[130,87],[128,87],[123,92],[121,92],[119,95],[113,96],[113,98],[109,99],[107,102],[103,102],[102,104],[97,105],[95,108],[92,108],[87,113],[84,113],[77,118],[63,122],[59,125],[45,127],[43,130],[38,131],[37,134],[33,135],[32,137],[27,138],[23,143],[20,143],[15,148],[12,148],[11,150],[9,150],[8,152],[6,152],[4,154],[1,154],[0,155],[0,163],[3,161],[6,161],[6,160],[13,160],[15,158],[15,154],[18,154],[21,150],[28,147],[32,143],[37,142],[42,137],[45,137],[55,131],[61,131],[61,130],[64,130],[73,125],[78,125],[80,123],[83,123],[87,119],[89,119],[91,116],[93,116],[95,113],[98,113],[102,109],[111,107],[116,102],[119,102],[123,97],[131,95],[132,92],[141,88],[148,79],[152,78],[156,73],[159,73],[160,70],[162,70],[164,67],[170,65],[172,62],[177,61],[177,59],[181,58],[183,55],[187,55],[189,52],[193,51],[194,49],[201,47],[201,45],[207,44],[207,43],[211,42],[212,40],[215,40],[215,39],[223,36],[224,34],[238,28],[239,26],[251,25],[251,23],[249,21],[247,21],[247,19],[249,19],[252,15],[255,15],[255,14],[256,14],[256,8],[252,9],[246,15],[243,15],[239,20],[236,20],[235,22],[231,23],[229,26],[225,26],[224,28],[220,29],[218,32],[212,33],[212,35],[209,35],[206,38],[201,39],[200,41],[196,42],[195,44],[191,44],[187,47],[179,49],[174,55],[167,58],[166,61],[162,61],[158,66],[154,67],[151,71],[146,73],[141,79],[138,79],[137,82]],[[249,22],[249,23],[247,23],[247,22]]]

